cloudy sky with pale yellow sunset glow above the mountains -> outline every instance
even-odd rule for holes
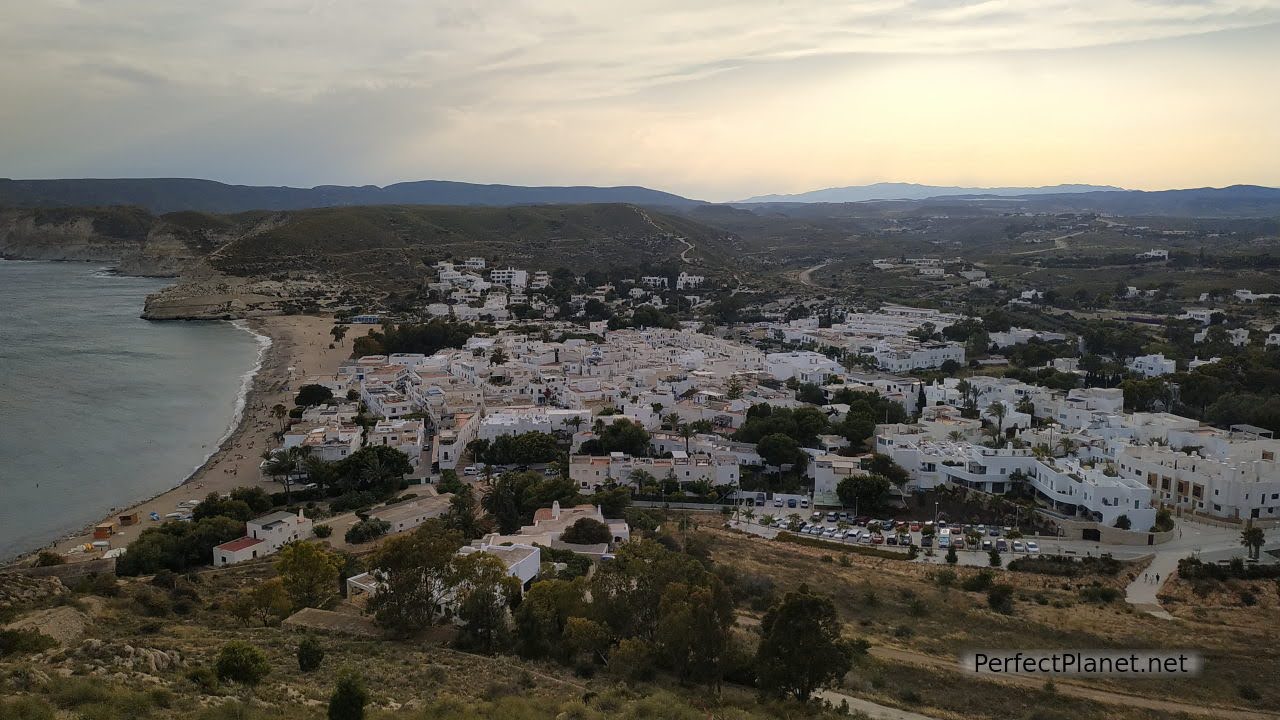
[[[1280,0],[0,0],[0,176],[1280,186]]]

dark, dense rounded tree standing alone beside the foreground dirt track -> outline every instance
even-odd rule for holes
[[[760,623],[755,670],[760,691],[808,702],[813,691],[845,675],[855,650],[840,637],[840,618],[828,596],[800,585]]]

